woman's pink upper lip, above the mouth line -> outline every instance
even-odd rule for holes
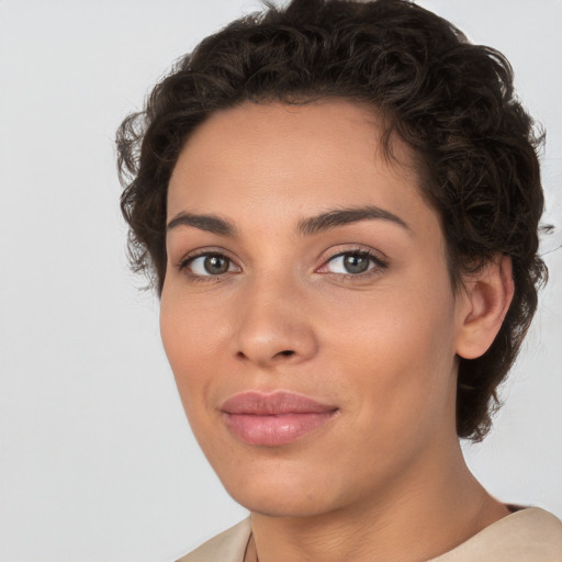
[[[323,404],[303,394],[285,391],[271,393],[257,391],[241,392],[231,396],[221,406],[221,412],[226,414],[246,414],[254,416],[322,414],[336,409],[336,406]]]

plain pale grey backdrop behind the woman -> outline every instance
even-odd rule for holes
[[[427,0],[510,59],[544,124],[551,283],[468,461],[562,516],[562,2]],[[0,0],[0,560],[171,561],[245,517],[189,430],[126,267],[114,131],[250,0]],[[248,475],[251,477],[251,475]]]

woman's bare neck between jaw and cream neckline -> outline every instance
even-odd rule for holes
[[[445,451],[437,462],[417,463],[360,503],[327,514],[252,513],[247,560],[419,562],[448,552],[508,510],[470,473],[457,440]]]

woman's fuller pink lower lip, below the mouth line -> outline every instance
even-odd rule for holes
[[[258,416],[227,414],[228,429],[241,441],[262,447],[279,447],[303,437],[328,422],[335,412],[311,412]]]

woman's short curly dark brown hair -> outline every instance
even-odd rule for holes
[[[407,0],[268,5],[179,60],[117,133],[133,268],[161,292],[168,181],[186,139],[211,114],[245,101],[325,98],[367,102],[384,115],[385,138],[398,135],[414,149],[453,288],[492,257],[512,258],[515,296],[499,334],[482,357],[460,359],[457,431],[480,440],[547,278],[537,254],[542,135],[514,95],[504,56]]]

